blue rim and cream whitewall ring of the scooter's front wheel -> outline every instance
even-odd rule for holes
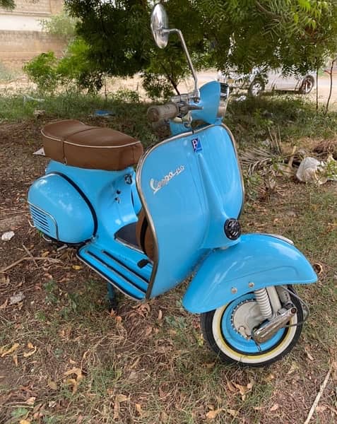
[[[254,299],[254,293],[243,295],[215,310],[213,316],[213,337],[220,351],[233,360],[247,364],[264,363],[281,355],[290,345],[297,329],[296,326],[279,329],[268,341],[260,344],[260,351],[252,338],[244,338],[232,324],[233,312],[240,308],[240,305]],[[290,324],[296,323],[297,315],[290,320]]]

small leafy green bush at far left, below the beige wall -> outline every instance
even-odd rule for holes
[[[41,53],[23,66],[37,88],[42,92],[53,92],[57,88],[57,57],[54,52]]]

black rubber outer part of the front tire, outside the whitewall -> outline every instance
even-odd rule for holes
[[[291,285],[288,285],[288,288],[293,293],[296,294],[295,290],[292,288]],[[291,301],[295,305],[295,307],[297,307],[297,322],[302,322],[303,321],[303,309],[302,309],[302,305],[301,305],[300,300],[295,298],[295,296],[291,296]],[[266,367],[266,366],[271,365],[272,363],[276,362],[277,360],[280,360],[281,358],[283,358],[283,356],[287,355],[292,350],[292,348],[295,346],[298,339],[300,338],[300,334],[302,332],[303,324],[300,324],[299,326],[297,326],[295,334],[294,334],[290,344],[287,346],[287,348],[285,348],[284,351],[282,351],[280,354],[276,355],[275,358],[272,358],[270,360],[266,360],[264,362],[256,363],[256,364],[238,362],[237,360],[233,360],[232,358],[230,358],[230,356],[225,355],[225,353],[223,353],[223,351],[221,351],[220,348],[218,347],[218,345],[215,343],[215,339],[213,337],[213,331],[212,331],[214,314],[215,314],[215,310],[212,310],[212,311],[209,311],[209,312],[204,312],[203,314],[201,314],[200,322],[201,322],[201,330],[202,330],[202,333],[203,333],[203,338],[205,338],[205,340],[208,343],[208,346],[211,348],[212,351],[215,352],[215,354],[218,356],[218,358],[220,360],[223,360],[226,363],[232,363],[232,364],[240,365],[241,367]]]

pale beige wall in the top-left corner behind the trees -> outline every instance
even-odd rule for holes
[[[0,8],[0,61],[7,66],[20,68],[25,61],[48,50],[57,56],[64,42],[42,33],[40,20],[61,11],[63,0],[15,0],[16,8]]]

